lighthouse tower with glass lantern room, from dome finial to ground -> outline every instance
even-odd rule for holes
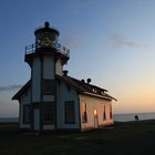
[[[69,50],[59,43],[60,32],[45,22],[34,31],[35,43],[25,46],[24,61],[31,68],[31,128],[42,131],[45,124],[56,128],[56,80],[70,59]],[[51,117],[44,114],[52,111]],[[46,116],[46,117],[45,117]],[[46,125],[46,127],[49,127]],[[51,127],[51,126],[50,126]]]

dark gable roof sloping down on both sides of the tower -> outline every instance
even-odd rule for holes
[[[56,75],[56,80],[65,82],[68,85],[74,87],[80,94],[85,94],[90,96],[95,96],[95,97],[102,97],[105,100],[115,100],[113,96],[106,94],[107,90],[99,87],[96,85],[92,85],[89,83],[85,83],[83,81],[80,81],[78,79],[68,76],[68,75]],[[29,80],[18,92],[17,94],[12,97],[12,100],[19,100],[20,96],[31,86],[31,80]]]

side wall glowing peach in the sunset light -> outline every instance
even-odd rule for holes
[[[82,113],[81,113],[81,130],[89,130],[95,127],[94,110],[97,111],[99,126],[113,124],[113,120],[110,117],[110,108],[112,106],[112,101],[97,99],[89,95],[80,95],[81,108],[82,108],[82,103],[86,103],[87,122],[82,123]],[[106,120],[103,120],[104,105],[105,105]]]

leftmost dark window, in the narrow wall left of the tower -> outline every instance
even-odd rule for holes
[[[23,105],[23,124],[30,123],[30,105]]]

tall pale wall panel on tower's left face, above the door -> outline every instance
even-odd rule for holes
[[[41,61],[39,56],[33,59],[32,66],[32,102],[40,102],[41,93]]]

